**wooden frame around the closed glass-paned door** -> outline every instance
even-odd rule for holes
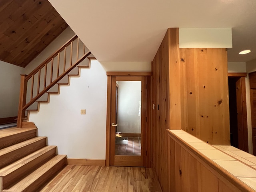
[[[106,161],[105,166],[110,166],[110,129],[111,129],[111,85],[113,76],[146,76],[146,158],[144,159],[144,165],[147,168],[151,167],[151,92],[150,92],[150,80],[152,72],[107,72],[108,85],[107,85],[107,124],[106,124]]]

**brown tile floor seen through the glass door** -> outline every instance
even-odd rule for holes
[[[128,144],[116,144],[116,155],[141,155],[141,137],[128,137]]]

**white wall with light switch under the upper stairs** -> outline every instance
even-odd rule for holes
[[[105,159],[106,102],[106,71],[94,60],[80,77],[71,77],[70,86],[61,86],[59,95],[52,94],[49,104],[41,103],[40,112],[30,112],[29,120],[38,127],[38,136],[58,146],[58,154]]]

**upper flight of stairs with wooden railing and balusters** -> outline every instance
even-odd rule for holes
[[[72,37],[28,75],[21,75],[17,128],[23,128],[30,111],[38,111],[50,94],[59,94],[70,76],[80,76],[80,68],[90,68],[91,52],[78,36]]]

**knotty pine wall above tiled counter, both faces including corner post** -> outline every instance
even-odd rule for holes
[[[167,30],[152,61],[152,167],[162,189],[170,174],[166,129],[230,144],[226,50],[180,49],[178,34]]]

